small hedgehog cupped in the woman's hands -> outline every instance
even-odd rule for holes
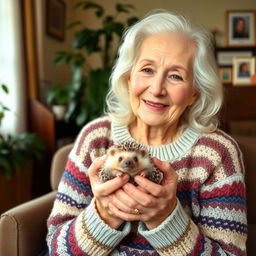
[[[163,179],[163,173],[154,166],[150,153],[143,146],[132,141],[108,149],[107,159],[99,177],[102,182],[106,182],[123,173],[130,175],[131,183],[134,183],[133,179],[136,175],[146,177],[157,184]]]

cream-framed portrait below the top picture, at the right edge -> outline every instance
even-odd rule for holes
[[[250,85],[251,76],[255,74],[255,58],[233,59],[233,84]]]

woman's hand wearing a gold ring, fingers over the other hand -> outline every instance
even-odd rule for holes
[[[176,207],[178,175],[168,162],[153,159],[156,167],[163,173],[163,181],[156,184],[147,178],[136,176],[139,185],[127,183],[112,197],[112,212],[125,221],[140,220],[148,229],[160,225]]]

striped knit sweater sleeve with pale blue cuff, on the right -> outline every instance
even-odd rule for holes
[[[160,255],[246,255],[244,167],[241,152],[232,143],[225,153],[222,150],[221,162],[198,193],[192,192],[191,215],[178,200],[175,210],[157,228],[148,230],[140,223],[139,233]]]

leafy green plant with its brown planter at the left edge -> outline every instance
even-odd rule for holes
[[[8,87],[2,84],[0,93],[8,94]],[[10,109],[0,102],[0,125],[6,111]],[[44,148],[34,134],[5,135],[0,132],[0,213],[31,199],[31,162],[43,156]]]

